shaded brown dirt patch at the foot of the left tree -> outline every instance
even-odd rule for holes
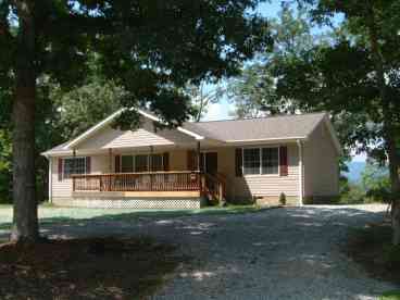
[[[141,299],[177,266],[174,247],[137,239],[0,245],[0,299]]]

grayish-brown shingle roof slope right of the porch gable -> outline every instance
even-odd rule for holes
[[[325,113],[185,123],[184,128],[223,141],[307,137]]]

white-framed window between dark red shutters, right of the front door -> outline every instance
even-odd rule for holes
[[[278,174],[279,148],[243,149],[243,174]]]

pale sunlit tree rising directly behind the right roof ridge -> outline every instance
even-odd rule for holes
[[[312,110],[296,98],[276,93],[276,70],[316,43],[322,43],[325,36],[311,33],[304,9],[295,12],[289,5],[283,7],[278,17],[271,21],[270,27],[274,40],[273,51],[259,53],[258,60],[247,65],[240,76],[233,78],[228,85],[229,99],[235,104],[238,117]]]

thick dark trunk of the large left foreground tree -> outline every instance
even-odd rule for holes
[[[18,49],[13,104],[13,200],[14,215],[11,240],[38,239],[35,190],[35,22],[33,3],[17,1]]]

